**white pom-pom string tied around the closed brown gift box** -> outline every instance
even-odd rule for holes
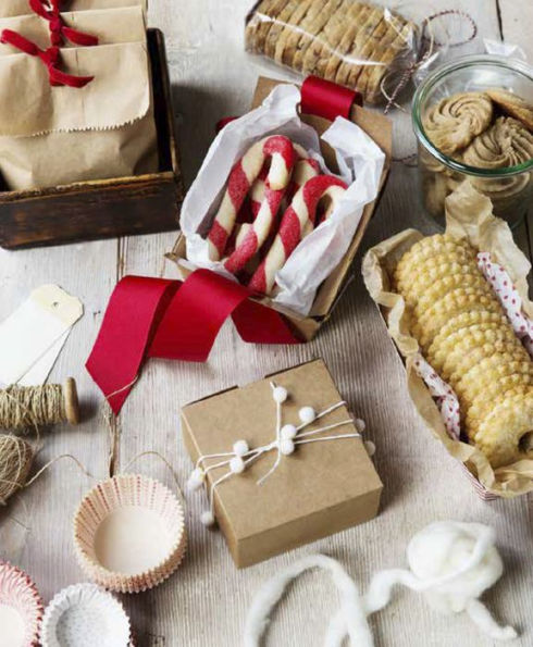
[[[305,431],[309,425],[315,421],[324,418],[329,413],[332,413],[336,409],[344,407],[346,402],[343,400],[324,409],[323,411],[317,412],[312,407],[301,407],[298,412],[300,424],[283,424],[283,403],[288,398],[287,389],[283,386],[276,386],[273,382],[270,383],[272,388],[272,398],[276,405],[276,426],[275,426],[275,439],[272,443],[262,445],[261,447],[250,448],[248,443],[244,439],[237,440],[233,445],[232,451],[219,452],[219,453],[207,453],[200,456],[196,461],[195,469],[193,470],[187,487],[189,490],[195,492],[200,489],[204,484],[208,487],[208,501],[209,508],[201,514],[201,522],[203,525],[214,524],[214,490],[215,488],[227,481],[232,476],[243,474],[247,468],[255,463],[262,456],[270,451],[276,451],[277,456],[272,468],[257,482],[257,485],[262,485],[266,478],[269,478],[278,468],[282,457],[290,456],[296,450],[298,445],[307,445],[309,443],[323,443],[326,440],[339,440],[344,438],[360,438],[361,432],[364,430],[364,422],[360,419],[348,418],[340,422],[334,422],[326,424],[322,427]],[[346,434],[333,434],[329,436],[321,436],[324,432],[331,432],[335,428],[345,426],[347,424],[355,425],[357,432],[350,432]],[[208,465],[206,461],[210,459],[222,459],[219,462]],[[225,469],[224,474],[214,478],[210,486],[207,485],[207,475],[215,470]]]

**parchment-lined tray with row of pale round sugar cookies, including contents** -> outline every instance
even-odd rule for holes
[[[487,500],[533,489],[530,269],[468,182],[446,199],[445,234],[407,229],[363,260],[412,402]]]

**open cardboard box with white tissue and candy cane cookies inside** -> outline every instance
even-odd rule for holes
[[[238,281],[309,340],[347,283],[387,177],[392,132],[358,105],[332,121],[301,113],[300,99],[294,85],[259,79],[255,110],[213,141],[169,258],[183,279],[201,267]]]

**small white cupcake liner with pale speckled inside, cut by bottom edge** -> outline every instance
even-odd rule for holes
[[[74,584],[48,605],[40,640],[42,647],[131,647],[129,618],[119,600],[96,584]]]

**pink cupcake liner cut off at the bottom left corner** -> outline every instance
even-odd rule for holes
[[[38,647],[44,607],[28,575],[0,561],[0,645]]]

